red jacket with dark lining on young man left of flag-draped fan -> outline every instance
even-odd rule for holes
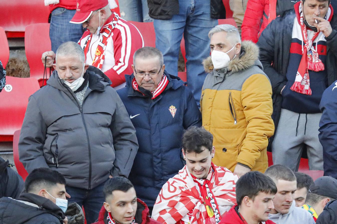
[[[106,221],[106,217],[108,217],[108,212],[105,210],[104,206],[102,206],[97,222],[93,224],[108,224]],[[139,224],[154,224],[159,223],[149,217],[149,208],[145,204],[144,201],[137,198],[137,211],[136,215],[134,216],[135,222]]]

